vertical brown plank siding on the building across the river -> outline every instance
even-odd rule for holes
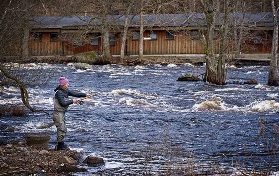
[[[143,41],[143,54],[204,54],[204,44],[202,40],[192,39],[190,34],[174,36],[174,40],[167,40],[167,31],[157,30],[156,40]],[[73,43],[67,41],[50,41],[51,32],[41,32],[41,41],[29,41],[30,55],[74,55],[81,52],[96,51],[101,52],[101,38],[99,45],[91,45],[90,43],[74,46]],[[144,32],[144,37],[149,37],[150,31]],[[112,55],[120,55],[121,41],[119,34],[115,34],[115,45],[110,45]],[[271,35],[269,35],[271,36]],[[261,44],[255,44],[251,41],[245,41],[242,44],[241,52],[243,53],[270,53],[271,38],[267,37]],[[230,40],[230,51],[235,51],[235,41]],[[220,39],[214,41],[214,51],[219,52]],[[129,37],[126,41],[126,54],[139,54],[139,41]]]

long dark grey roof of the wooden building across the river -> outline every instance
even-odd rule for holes
[[[244,15],[244,21],[246,26],[273,26],[273,17],[271,13],[258,13],[258,14],[230,14],[230,19],[235,16],[237,20],[240,20]],[[222,14],[218,17],[218,21],[222,21]],[[132,15],[129,15],[132,18]],[[109,16],[108,20],[111,20],[115,25],[123,25],[125,16],[114,15]],[[130,27],[139,27],[140,17],[135,15]],[[144,15],[143,17],[145,26],[205,26],[203,13],[192,14],[152,14]],[[87,26],[87,25],[101,25],[100,19],[93,18],[92,16],[39,16],[32,17],[30,24],[33,29],[54,29],[65,28],[72,26]],[[278,13],[279,24],[279,13]]]

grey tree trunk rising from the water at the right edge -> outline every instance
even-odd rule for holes
[[[271,58],[270,58],[270,69],[268,75],[268,85],[278,86],[278,24],[277,24],[277,10],[275,8],[274,0],[271,0],[272,12],[273,12],[273,38],[271,46]]]

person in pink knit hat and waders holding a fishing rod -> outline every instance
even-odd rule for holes
[[[65,77],[59,77],[59,86],[54,89],[54,110],[53,110],[53,122],[57,128],[57,145],[55,146],[55,150],[70,150],[69,147],[64,143],[64,137],[67,133],[66,128],[66,118],[65,112],[70,104],[77,104],[79,100],[77,99],[70,99],[71,97],[86,97],[91,98],[94,95],[91,94],[84,94],[79,92],[74,92],[68,89],[69,81]],[[83,103],[82,103],[83,104]]]

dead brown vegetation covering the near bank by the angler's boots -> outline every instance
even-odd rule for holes
[[[1,175],[66,175],[69,172],[85,172],[83,167],[61,164],[63,156],[79,161],[81,154],[76,151],[54,151],[30,146],[0,146]]]

